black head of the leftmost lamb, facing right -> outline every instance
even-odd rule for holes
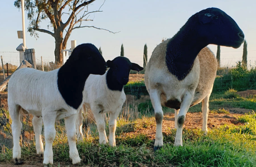
[[[91,43],[84,43],[73,49],[66,63],[74,63],[79,71],[103,75],[106,72],[106,62],[99,50]]]

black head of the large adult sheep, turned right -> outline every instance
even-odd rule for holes
[[[201,10],[191,16],[198,18],[197,31],[208,44],[238,48],[244,41],[243,31],[229,15],[218,8]]]

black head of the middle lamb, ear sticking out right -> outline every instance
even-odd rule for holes
[[[130,70],[141,71],[143,67],[136,63],[130,62],[126,57],[116,57],[113,60],[108,60],[107,66],[110,68],[108,74],[111,73],[113,82],[117,82],[119,85],[126,85],[129,81]]]

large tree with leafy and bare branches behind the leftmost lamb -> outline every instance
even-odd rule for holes
[[[14,6],[20,9],[21,0],[15,0]],[[28,32],[30,36],[38,38],[37,32],[47,33],[55,39],[55,64],[62,64],[63,55],[61,50],[66,49],[66,43],[71,32],[74,29],[92,27],[102,29],[95,26],[83,25],[89,19],[91,13],[102,12],[98,10],[89,10],[89,4],[95,0],[25,0],[25,10],[27,18],[30,21]],[[40,23],[50,20],[46,29],[40,27]],[[50,29],[50,30],[49,30]],[[110,30],[103,29],[113,33]]]

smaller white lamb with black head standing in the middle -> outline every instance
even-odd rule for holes
[[[83,102],[85,107],[90,108],[93,112],[100,135],[100,144],[108,143],[104,115],[106,112],[110,113],[109,144],[110,146],[116,146],[116,119],[126,100],[123,86],[129,81],[130,70],[139,72],[143,70],[143,67],[136,63],[131,63],[129,59],[121,56],[116,57],[112,61],[108,60],[106,63],[110,68],[106,74],[90,75],[86,80]],[[82,109],[80,109],[76,121],[76,130],[80,140],[83,140],[82,123],[83,114]]]

